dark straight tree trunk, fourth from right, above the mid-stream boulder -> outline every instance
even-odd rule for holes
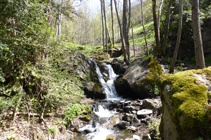
[[[153,20],[154,20],[154,29],[155,29],[155,40],[156,40],[156,52],[158,58],[161,57],[160,53],[160,33],[158,30],[158,18],[156,14],[156,0],[152,0],[152,13],[153,13]]]

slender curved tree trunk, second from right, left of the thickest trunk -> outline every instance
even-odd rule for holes
[[[179,45],[180,45],[180,39],[181,39],[181,34],[182,34],[183,1],[184,0],[180,0],[179,25],[178,25],[178,32],[177,32],[177,42],[176,42],[176,47],[174,49],[174,55],[173,55],[173,59],[172,59],[172,62],[171,62],[171,67],[170,67],[169,73],[173,73],[174,72],[174,66],[175,66],[175,62],[177,60],[177,54],[178,54]]]

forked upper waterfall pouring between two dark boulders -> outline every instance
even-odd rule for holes
[[[122,98],[118,96],[116,92],[116,88],[114,86],[114,80],[116,80],[118,75],[114,73],[111,65],[103,63],[103,65],[108,68],[108,80],[105,81],[97,63],[94,60],[92,61],[95,64],[96,73],[97,73],[99,82],[102,86],[103,92],[105,92],[106,94],[106,100],[121,100]]]

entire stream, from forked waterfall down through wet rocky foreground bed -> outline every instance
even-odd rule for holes
[[[138,106],[138,111],[142,101],[137,100],[133,102],[119,97],[114,86],[114,81],[118,75],[114,73],[112,66],[103,63],[108,69],[108,80],[105,81],[97,63],[94,60],[92,61],[95,64],[96,73],[102,89],[106,94],[106,99],[99,100],[92,106],[94,113],[91,115],[91,121],[85,126],[84,124],[79,125],[79,131],[81,134],[77,139],[141,140],[142,138],[138,135],[138,132],[144,132],[146,130],[148,118],[145,118],[145,121],[140,121],[134,117],[125,115],[125,112],[132,112],[134,110],[132,108],[133,106]],[[137,103],[137,105],[135,103]],[[131,104],[133,104],[133,106],[131,106]],[[124,120],[120,118],[124,118]]]

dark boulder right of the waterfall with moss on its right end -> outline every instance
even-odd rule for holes
[[[125,98],[151,97],[155,79],[162,73],[162,68],[154,59],[135,60],[115,81],[116,90]]]

